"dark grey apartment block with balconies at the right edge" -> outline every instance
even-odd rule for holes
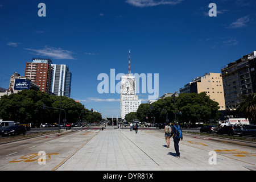
[[[256,51],[221,69],[226,108],[236,110],[241,96],[256,93]]]

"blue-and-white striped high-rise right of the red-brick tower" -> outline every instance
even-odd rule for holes
[[[51,92],[56,96],[71,96],[72,73],[65,64],[52,64]]]

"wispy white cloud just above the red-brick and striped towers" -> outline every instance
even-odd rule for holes
[[[54,47],[44,47],[44,49],[30,49],[25,48],[28,51],[34,52],[36,55],[39,56],[47,56],[52,59],[75,59],[72,57],[72,52],[68,50],[63,50],[61,48],[54,48]]]

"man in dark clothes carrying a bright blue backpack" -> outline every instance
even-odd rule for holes
[[[174,148],[176,151],[176,158],[180,158],[179,142],[183,140],[182,131],[176,121],[173,122],[172,132],[170,138],[174,138]]]

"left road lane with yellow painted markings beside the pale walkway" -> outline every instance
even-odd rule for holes
[[[50,171],[65,162],[100,130],[77,130],[1,145],[1,171]]]

